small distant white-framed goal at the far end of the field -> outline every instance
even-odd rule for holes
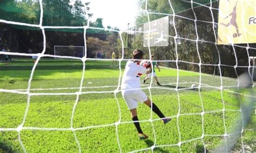
[[[54,46],[54,55],[79,57],[82,58],[85,55],[84,46]],[[56,57],[55,57],[56,59]]]

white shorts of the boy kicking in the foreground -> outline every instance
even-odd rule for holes
[[[122,91],[122,95],[130,110],[138,107],[138,101],[143,103],[147,100],[147,95],[141,89]]]

